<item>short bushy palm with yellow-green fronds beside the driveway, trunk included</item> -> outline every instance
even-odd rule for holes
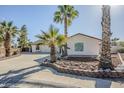
[[[52,63],[56,62],[56,46],[60,46],[66,42],[65,36],[58,32],[59,30],[51,25],[48,32],[42,31],[42,34],[36,35],[36,37],[41,40],[39,44],[48,45],[50,47],[50,58]]]

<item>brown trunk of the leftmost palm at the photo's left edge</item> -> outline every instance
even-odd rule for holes
[[[4,41],[4,47],[5,47],[5,56],[8,57],[10,56],[10,53],[11,53],[11,36],[10,36],[10,33],[6,32],[6,35],[5,35],[5,41]]]

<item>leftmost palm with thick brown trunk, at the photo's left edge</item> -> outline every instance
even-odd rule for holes
[[[0,23],[0,33],[1,33],[1,38],[4,42],[6,57],[10,56],[11,39],[12,37],[15,37],[16,32],[17,32],[17,27],[13,26],[12,21],[10,22],[3,21]]]

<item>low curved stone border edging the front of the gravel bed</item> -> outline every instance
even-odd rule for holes
[[[78,76],[87,76],[87,77],[93,77],[93,78],[123,78],[124,77],[124,71],[116,71],[116,70],[84,71],[84,70],[78,70],[78,69],[67,69],[52,63],[42,63],[40,65],[45,67],[51,67],[60,73],[67,73],[67,74],[78,75]]]

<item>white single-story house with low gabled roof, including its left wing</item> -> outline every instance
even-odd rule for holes
[[[46,45],[38,45],[40,41],[32,43],[32,52],[50,52],[50,48]],[[77,33],[68,37],[68,55],[99,55],[101,39]],[[57,51],[59,49],[57,48]]]

